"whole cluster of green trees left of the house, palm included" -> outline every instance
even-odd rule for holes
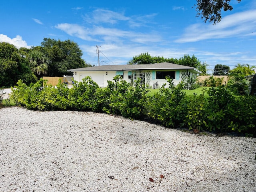
[[[81,57],[82,50],[71,40],[44,38],[41,46],[20,49],[0,42],[0,87],[14,86],[19,79],[30,84],[43,75],[71,75],[68,69],[91,66]]]

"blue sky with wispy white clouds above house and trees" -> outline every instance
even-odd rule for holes
[[[133,56],[180,58],[193,54],[234,68],[256,65],[256,1],[231,0],[216,25],[196,18],[196,0],[5,0],[0,4],[0,41],[40,46],[43,38],[73,40],[89,64],[126,64]]]

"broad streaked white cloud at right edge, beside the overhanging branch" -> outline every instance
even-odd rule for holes
[[[256,10],[235,13],[223,17],[220,23],[193,24],[186,28],[178,43],[196,42],[206,39],[230,38],[256,35]]]

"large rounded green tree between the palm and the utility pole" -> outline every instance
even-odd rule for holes
[[[48,58],[48,76],[71,74],[68,69],[91,66],[81,58],[82,50],[71,40],[55,40],[44,38],[41,51]]]

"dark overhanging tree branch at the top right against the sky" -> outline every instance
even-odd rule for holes
[[[236,0],[240,3],[241,0]],[[221,20],[221,12],[233,10],[230,0],[197,0],[197,16],[204,19],[204,22],[213,22],[216,24]]]

